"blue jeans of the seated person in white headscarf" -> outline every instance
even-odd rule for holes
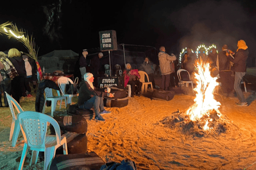
[[[94,107],[95,116],[99,116],[100,111],[105,110],[103,106],[103,97],[99,96],[93,96],[89,100],[85,101],[83,105],[78,107],[83,109],[91,109],[92,107]]]

